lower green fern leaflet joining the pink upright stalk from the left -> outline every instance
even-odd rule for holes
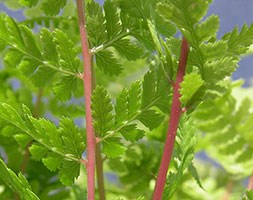
[[[4,129],[8,127],[8,134],[19,134],[15,139],[18,142],[25,141],[26,144],[31,139],[35,140],[29,148],[33,158],[42,160],[52,171],[59,169],[59,178],[63,184],[73,184],[74,178],[79,175],[80,159],[85,149],[84,139],[73,122],[62,118],[57,129],[52,122],[43,118],[35,119],[27,114],[26,107],[23,107],[25,114],[20,115],[10,105],[1,103],[0,111],[1,125],[4,125]]]

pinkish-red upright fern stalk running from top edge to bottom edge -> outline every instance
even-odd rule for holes
[[[92,92],[92,75],[91,75],[91,54],[89,50],[89,43],[87,32],[85,29],[85,14],[83,0],[76,0],[78,22],[82,44],[82,56],[84,60],[84,97],[86,109],[86,136],[87,136],[87,197],[88,200],[95,199],[95,136],[92,126],[91,114],[91,92]]]

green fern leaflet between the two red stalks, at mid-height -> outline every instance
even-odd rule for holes
[[[148,72],[142,85],[138,81],[129,88],[123,89],[114,106],[102,86],[97,86],[94,90],[92,96],[93,125],[97,136],[102,139],[103,148],[106,148],[104,153],[108,157],[116,157],[115,153],[120,156],[125,151],[116,137],[119,134],[131,142],[136,142],[144,136],[145,129],[140,129],[136,120],[150,130],[157,128],[163,122],[164,115],[155,109],[160,99],[160,96],[157,96],[156,79],[154,71]],[[153,99],[149,99],[150,91],[153,93],[151,94]]]

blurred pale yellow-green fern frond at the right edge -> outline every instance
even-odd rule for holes
[[[230,86],[231,87],[231,86]],[[229,172],[238,177],[250,175],[253,149],[251,101],[245,98],[239,106],[231,89],[216,101],[201,104],[194,112],[198,128],[208,135],[212,145],[204,147]],[[205,143],[205,142],[204,142]],[[236,161],[237,168],[231,164]]]

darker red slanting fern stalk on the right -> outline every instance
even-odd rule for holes
[[[157,176],[155,190],[153,193],[153,200],[162,199],[162,194],[166,183],[166,175],[172,157],[177,128],[182,113],[181,103],[179,100],[180,98],[179,89],[185,74],[188,53],[189,53],[189,46],[186,39],[183,38],[181,45],[181,55],[178,64],[177,78],[176,82],[173,84],[173,98],[170,112],[169,128],[164,145],[163,156],[160,164],[159,173]]]

